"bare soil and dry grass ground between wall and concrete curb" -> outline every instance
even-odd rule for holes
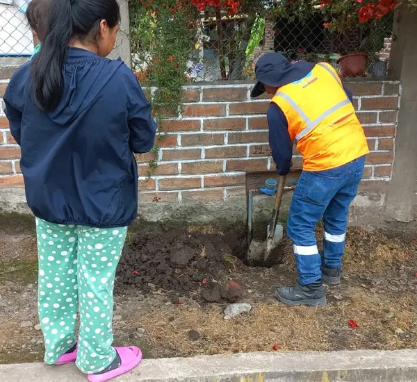
[[[0,363],[42,360],[33,222],[0,217],[0,227]],[[272,267],[248,267],[242,232],[133,227],[117,269],[115,343],[147,357],[417,347],[416,233],[350,227],[343,283],[326,287],[327,306],[288,308],[274,290],[297,281],[291,243]],[[252,311],[225,320],[220,285],[232,280]]]

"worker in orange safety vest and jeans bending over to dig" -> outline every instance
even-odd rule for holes
[[[268,53],[256,63],[255,75],[252,97],[272,94],[267,119],[278,174],[288,174],[293,144],[303,157],[287,222],[300,280],[294,287],[278,288],[277,299],[288,305],[322,306],[322,282],[341,282],[347,213],[362,178],[368,144],[352,94],[331,65],[291,64],[279,53]],[[321,254],[314,234],[320,219],[325,227]]]

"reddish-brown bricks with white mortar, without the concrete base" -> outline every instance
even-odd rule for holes
[[[246,172],[274,169],[265,120],[268,99],[251,100],[251,87],[245,83],[186,88],[187,102],[181,117],[163,121],[161,130],[166,134],[158,138],[160,151],[138,156],[142,204],[226,201],[245,194]],[[394,160],[400,85],[355,81],[347,83],[347,87],[354,94],[371,150],[363,181],[375,185],[388,182]],[[3,88],[4,83],[0,83]],[[153,159],[159,166],[148,178],[147,162]],[[297,153],[293,165],[302,165]],[[6,117],[0,116],[0,189],[22,186],[19,147],[10,135]]]

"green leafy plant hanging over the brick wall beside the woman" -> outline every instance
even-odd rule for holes
[[[176,0],[133,0],[129,7],[133,70],[149,94],[161,131],[161,119],[181,113],[197,10]],[[157,155],[158,146],[152,151]],[[148,165],[151,176],[158,164],[151,160]]]

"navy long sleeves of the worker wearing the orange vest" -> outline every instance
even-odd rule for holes
[[[352,93],[343,86],[347,97],[353,101]],[[293,157],[293,142],[288,133],[288,122],[277,103],[270,103],[268,107],[268,128],[271,155],[279,175],[286,175],[290,171]]]

